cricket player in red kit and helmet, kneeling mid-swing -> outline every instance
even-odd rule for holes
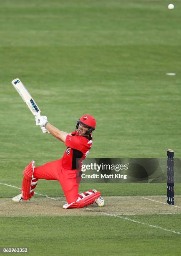
[[[76,124],[76,130],[72,133],[60,131],[51,125],[46,116],[35,117],[36,125],[40,125],[43,133],[51,133],[55,138],[65,143],[67,147],[61,159],[35,167],[35,161],[25,167],[21,194],[13,197],[14,202],[31,200],[34,197],[34,189],[38,179],[58,180],[65,194],[67,204],[64,209],[82,208],[96,203],[104,205],[101,192],[91,189],[87,192],[78,192],[81,179],[81,162],[91,150],[92,132],[96,128],[96,120],[91,115],[83,115]],[[80,166],[79,168],[77,166]]]

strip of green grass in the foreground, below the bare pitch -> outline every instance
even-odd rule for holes
[[[136,216],[141,222],[161,224],[157,215]],[[28,255],[179,255],[180,236],[141,226],[111,217],[62,217],[62,218],[3,218],[6,223],[2,230],[4,246],[25,245],[31,249]],[[178,226],[178,217],[164,216],[166,228]],[[23,225],[22,225],[23,223]],[[108,225],[109,223],[109,225]],[[13,227],[13,232],[12,232]],[[22,237],[25,230],[33,232],[32,237]],[[56,245],[56,246],[55,246]]]

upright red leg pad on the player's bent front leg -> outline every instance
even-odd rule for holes
[[[33,161],[25,167],[23,172],[23,182],[21,191],[23,193],[23,200],[28,200],[30,197],[31,180],[33,177]]]

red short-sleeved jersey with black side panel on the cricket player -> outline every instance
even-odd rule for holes
[[[67,135],[65,139],[67,149],[62,157],[62,166],[69,170],[77,169],[77,159],[80,159],[80,162],[85,159],[92,147],[92,143],[92,135],[89,135],[89,137],[78,136],[78,131]]]

